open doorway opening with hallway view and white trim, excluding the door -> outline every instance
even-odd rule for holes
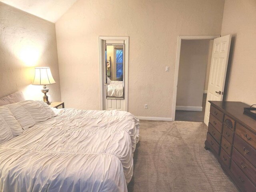
[[[204,122],[213,40],[178,36],[172,120]]]

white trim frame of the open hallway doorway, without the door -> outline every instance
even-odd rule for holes
[[[218,37],[220,37],[220,35],[179,35],[178,36],[176,66],[175,66],[175,79],[174,79],[174,91],[173,91],[173,102],[172,102],[172,121],[175,120],[178,73],[179,73],[179,66],[180,66],[181,40],[202,40],[202,39],[209,39],[210,40],[210,39],[215,39],[215,38],[218,38]]]

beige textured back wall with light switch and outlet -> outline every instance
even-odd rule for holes
[[[224,0],[78,0],[56,22],[65,105],[100,109],[98,36],[129,36],[128,111],[172,117],[178,35],[220,34],[223,6]]]

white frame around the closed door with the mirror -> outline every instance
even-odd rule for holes
[[[128,53],[129,53],[129,37],[128,36],[99,36],[99,56],[100,56],[100,110],[104,108],[104,59],[103,49],[105,40],[123,40],[124,41],[124,99],[125,111],[128,111]]]

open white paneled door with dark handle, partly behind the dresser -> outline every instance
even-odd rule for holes
[[[230,42],[231,35],[216,38],[213,42],[210,77],[204,114],[204,123],[207,126],[210,116],[210,103],[208,101],[222,101],[223,99]]]

